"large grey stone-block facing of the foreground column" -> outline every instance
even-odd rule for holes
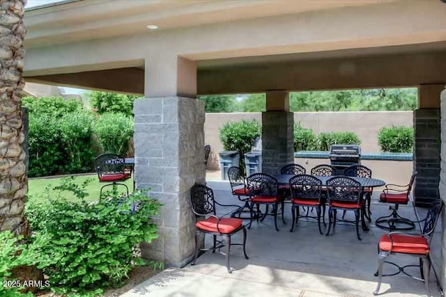
[[[141,244],[142,256],[184,266],[194,252],[194,216],[189,191],[204,184],[204,104],[187,97],[134,102],[135,183],[151,188],[163,206],[155,218],[160,238]]]

